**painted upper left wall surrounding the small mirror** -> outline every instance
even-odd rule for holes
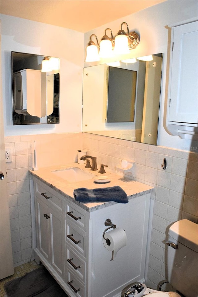
[[[60,124],[12,125],[11,51],[60,58]],[[1,15],[5,136],[80,132],[84,33]]]

